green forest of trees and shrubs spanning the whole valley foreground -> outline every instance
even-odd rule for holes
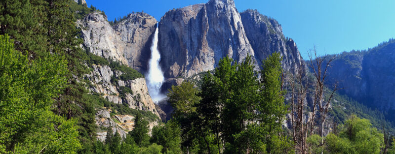
[[[0,2],[0,154],[395,154],[387,128],[365,119],[374,111],[362,117],[330,110],[340,96],[337,87],[325,87],[319,69],[330,60],[315,57],[316,73],[301,69],[285,77],[279,53],[258,71],[250,56],[240,62],[224,57],[198,82],[172,86],[172,118],[151,130],[148,121],[156,115],[87,90],[92,85],[84,77],[92,64],[124,72],[112,76],[114,83],[143,77],[80,47],[76,21],[93,11],[73,0]],[[310,107],[304,104],[308,95],[314,98]],[[133,130],[122,138],[102,128],[106,139],[97,140],[97,107],[135,115]],[[307,112],[313,115],[306,118]],[[329,118],[337,123],[327,126]],[[284,126],[289,121],[292,126]]]

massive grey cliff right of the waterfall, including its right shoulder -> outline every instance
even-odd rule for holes
[[[210,0],[168,11],[159,22],[159,52],[166,78],[190,77],[212,70],[225,56],[237,62],[251,55],[256,68],[273,52],[286,70],[302,58],[280,25],[257,11],[238,13],[233,0]]]

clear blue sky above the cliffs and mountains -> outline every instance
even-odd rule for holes
[[[86,0],[109,20],[144,11],[160,20],[164,13],[208,0]],[[235,0],[239,12],[251,8],[275,18],[300,53],[314,45],[320,55],[372,48],[395,37],[395,0]]]

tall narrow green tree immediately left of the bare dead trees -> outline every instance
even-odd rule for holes
[[[273,53],[263,61],[261,70],[261,100],[257,105],[260,114],[257,117],[267,132],[265,144],[268,153],[273,153],[273,151],[289,152],[288,148],[291,145],[287,138],[278,135],[282,131],[280,122],[285,119],[285,115],[288,113],[288,106],[284,103],[284,91],[282,91],[281,60],[279,53]]]

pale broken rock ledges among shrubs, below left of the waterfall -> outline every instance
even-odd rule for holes
[[[86,75],[86,79],[91,82],[89,90],[92,93],[98,93],[108,101],[115,104],[128,104],[129,108],[152,112],[162,120],[166,119],[164,112],[156,106],[148,93],[147,84],[144,78],[112,83],[112,77],[119,77],[122,72],[112,70],[107,65],[91,66],[91,74]],[[113,81],[114,82],[114,81]],[[131,93],[125,93],[124,97],[120,96],[119,87],[127,87]],[[97,138],[101,141],[105,140],[108,129],[113,129],[125,137],[128,131],[133,130],[133,115],[114,115],[110,116],[110,110],[106,108],[98,108],[96,113],[96,124],[99,126],[97,130]],[[164,114],[164,115],[163,115]],[[150,121],[150,128],[158,124],[158,121]]]

